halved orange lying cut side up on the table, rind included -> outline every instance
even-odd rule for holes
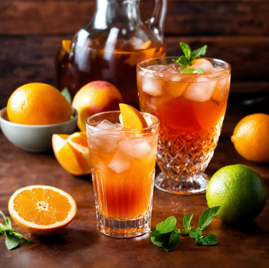
[[[76,202],[67,192],[46,185],[15,191],[8,211],[18,226],[34,235],[48,235],[67,226],[76,215]]]

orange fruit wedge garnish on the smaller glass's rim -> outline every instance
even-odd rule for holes
[[[119,103],[123,126],[126,130],[141,130],[146,128],[147,122],[137,109],[124,103]],[[142,134],[142,131],[135,131],[135,134]]]

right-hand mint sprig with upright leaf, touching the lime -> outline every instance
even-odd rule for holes
[[[190,227],[190,222],[192,217],[188,213],[185,213],[183,218],[183,225],[188,231],[178,229],[177,231],[182,235],[189,235],[191,238],[195,239],[194,244],[200,245],[215,245],[219,243],[218,238],[213,234],[202,235],[202,230],[206,228],[212,222],[214,215],[219,211],[220,206],[205,209],[201,216],[199,217],[199,227],[192,229]]]

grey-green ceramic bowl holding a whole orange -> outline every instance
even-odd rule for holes
[[[0,111],[0,126],[6,138],[14,145],[29,152],[46,152],[52,149],[53,134],[72,134],[77,126],[77,110],[72,107],[72,118],[52,125],[23,125],[7,118],[7,108]]]

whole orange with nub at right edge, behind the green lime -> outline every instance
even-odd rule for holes
[[[236,151],[254,162],[269,161],[269,115],[254,113],[242,118],[236,125],[231,141]]]

